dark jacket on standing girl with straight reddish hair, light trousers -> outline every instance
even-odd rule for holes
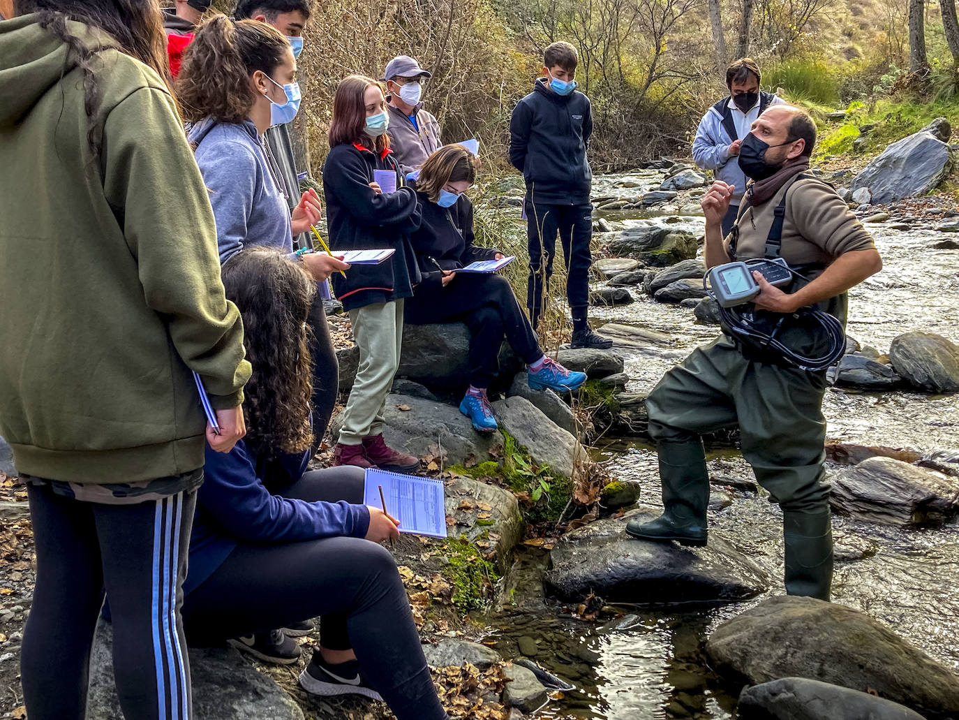
[[[374,170],[397,174],[395,193],[375,193],[369,183]],[[333,291],[352,310],[374,302],[409,298],[420,281],[409,235],[420,225],[416,193],[399,187],[402,177],[387,150],[377,156],[362,145],[338,145],[323,165],[330,247],[335,250],[396,248],[379,265],[354,265],[343,277],[334,273]]]

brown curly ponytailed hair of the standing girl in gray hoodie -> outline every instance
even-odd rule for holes
[[[249,76],[260,70],[272,77],[290,53],[290,42],[273,26],[214,15],[199,26],[176,76],[183,118],[242,123],[256,102]]]

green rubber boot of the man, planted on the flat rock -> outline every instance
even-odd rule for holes
[[[639,518],[626,524],[626,533],[640,540],[677,540],[683,545],[706,544],[706,508],[710,502],[710,477],[702,441],[661,441],[660,481],[666,512],[649,522]]]

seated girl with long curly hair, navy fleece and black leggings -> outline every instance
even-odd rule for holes
[[[305,689],[382,698],[399,720],[445,720],[396,564],[378,544],[398,536],[396,524],[363,505],[361,468],[307,470],[316,284],[267,249],[235,255],[223,284],[253,366],[247,433],[228,455],[206,455],[183,586],[187,637],[217,641],[321,615]]]

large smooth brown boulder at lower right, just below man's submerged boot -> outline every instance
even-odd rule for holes
[[[863,612],[778,595],[720,625],[706,654],[750,684],[808,678],[876,692],[928,717],[959,713],[959,677]]]

